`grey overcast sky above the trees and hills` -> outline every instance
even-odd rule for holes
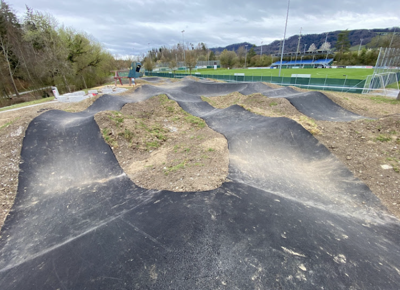
[[[92,34],[112,54],[139,54],[182,42],[208,47],[283,38],[287,0],[6,0],[22,16],[25,5],[60,24]],[[286,37],[345,29],[400,26],[398,0],[291,0]]]

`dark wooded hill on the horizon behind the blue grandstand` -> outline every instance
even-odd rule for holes
[[[400,28],[396,28],[396,31],[399,32]],[[336,40],[338,39],[338,34],[341,33],[342,30],[337,30],[337,31],[331,31],[328,32],[328,39],[327,41],[330,42],[331,47],[334,48],[336,44]],[[349,30],[349,41],[350,41],[350,46],[357,46],[360,45],[360,39],[363,39],[363,45],[367,44],[371,41],[371,39],[376,36],[376,35],[384,35],[387,33],[393,33],[393,28],[376,28],[376,29],[356,29],[356,30]],[[317,48],[321,46],[322,43],[325,41],[326,34],[325,33],[320,33],[320,34],[304,34],[302,35],[301,41],[300,41],[300,51],[304,51],[304,44],[306,45],[306,51],[308,50],[308,47],[310,46],[311,43],[314,43]],[[279,53],[280,52],[280,40],[275,40],[272,41],[269,44],[264,44],[263,45],[263,54],[273,54],[273,53]],[[297,45],[299,42],[299,34],[290,36],[289,38],[286,39],[285,41],[285,52],[296,52],[297,50]],[[229,46],[226,47],[218,47],[218,48],[210,48],[210,50],[216,52],[217,50],[219,52],[222,52],[224,49],[227,50],[235,50],[237,51],[239,47],[245,46],[248,44],[247,49],[249,50],[254,44],[249,43],[249,42],[242,42],[242,43],[235,43],[235,44],[230,44]],[[254,48],[256,53],[261,52],[261,46],[256,46]]]

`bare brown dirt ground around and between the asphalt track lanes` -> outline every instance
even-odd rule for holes
[[[215,107],[238,104],[255,114],[296,120],[400,217],[400,102],[357,94],[326,94],[354,113],[380,119],[315,121],[301,114],[286,99],[271,99],[260,94],[233,93],[203,99]],[[41,104],[0,113],[0,227],[14,203],[20,150],[30,121],[48,109],[81,111],[94,100]],[[216,188],[226,180],[226,139],[201,119],[185,113],[165,95],[127,104],[120,112],[101,112],[95,119],[122,169],[141,187],[203,191]]]

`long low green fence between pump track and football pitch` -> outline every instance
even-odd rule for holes
[[[354,79],[330,79],[330,78],[295,78],[295,77],[273,77],[273,76],[233,76],[233,75],[205,75],[205,74],[173,74],[173,73],[148,73],[146,75],[163,78],[183,78],[193,76],[223,80],[227,82],[269,82],[280,85],[294,85],[310,90],[336,91],[359,93],[363,92],[365,80]]]

